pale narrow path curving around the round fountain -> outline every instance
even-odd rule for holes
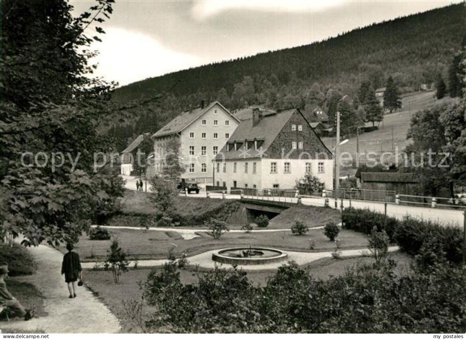
[[[398,246],[391,246],[389,247],[390,252],[397,251],[399,249]],[[219,251],[219,249],[214,249],[211,251],[206,251],[201,254],[197,254],[195,256],[188,256],[189,265],[199,265],[199,267],[213,269],[215,265],[224,268],[231,268],[233,265],[226,264],[226,263],[216,263],[212,260],[212,253]],[[298,265],[304,265],[307,263],[312,263],[315,260],[327,258],[332,256],[332,252],[296,252],[296,251],[283,251],[288,254],[287,261],[295,261]],[[340,255],[342,257],[345,256],[364,256],[369,253],[368,249],[346,249],[340,251]],[[162,266],[164,263],[167,263],[167,259],[154,259],[154,260],[139,260],[137,262],[138,267],[153,267],[153,266]],[[237,265],[239,268],[243,270],[276,270],[281,265],[283,265],[285,261],[280,263],[267,263],[261,265]],[[133,266],[134,262],[130,262],[130,266]],[[83,268],[92,269],[96,266],[96,263],[82,263]]]

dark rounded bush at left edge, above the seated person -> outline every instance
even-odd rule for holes
[[[0,263],[8,263],[10,277],[28,276],[35,272],[32,254],[27,248],[14,243],[12,247],[0,244]]]

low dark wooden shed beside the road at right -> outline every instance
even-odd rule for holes
[[[362,172],[363,190],[395,191],[398,194],[416,194],[419,181],[413,173]]]

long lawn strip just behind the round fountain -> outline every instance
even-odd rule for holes
[[[213,239],[206,232],[199,232],[194,239],[180,239],[176,230],[170,232],[147,231],[139,229],[110,229],[112,236],[117,238],[123,250],[128,251],[130,259],[164,259],[172,244],[177,245],[178,251],[186,251],[188,256],[199,254],[211,249],[222,249],[235,246],[263,246],[284,250],[311,251],[309,238],[316,240],[314,251],[333,250],[335,243],[323,235],[322,229],[311,229],[306,235],[293,235],[291,231],[261,232],[261,233],[226,233],[219,240]],[[338,238],[342,241],[342,249],[365,248],[367,237],[361,233],[343,229]],[[111,240],[89,240],[83,235],[75,246],[83,262],[105,260]],[[61,247],[62,253],[66,249]]]

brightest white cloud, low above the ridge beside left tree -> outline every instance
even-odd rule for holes
[[[159,76],[199,65],[198,57],[164,47],[154,38],[122,28],[106,28],[100,43],[93,47],[100,52],[93,62],[98,62],[95,75],[120,85],[147,77]]]

